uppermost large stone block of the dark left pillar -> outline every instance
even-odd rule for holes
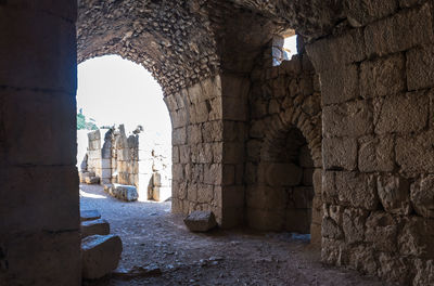
[[[29,3],[25,2],[26,5]],[[58,90],[72,95],[77,86],[74,23],[47,12],[8,8],[9,4],[0,10],[0,30],[8,39],[0,43],[0,57],[8,58],[0,63],[0,83]],[[30,5],[39,8],[40,4]],[[62,6],[66,11],[71,3]]]

